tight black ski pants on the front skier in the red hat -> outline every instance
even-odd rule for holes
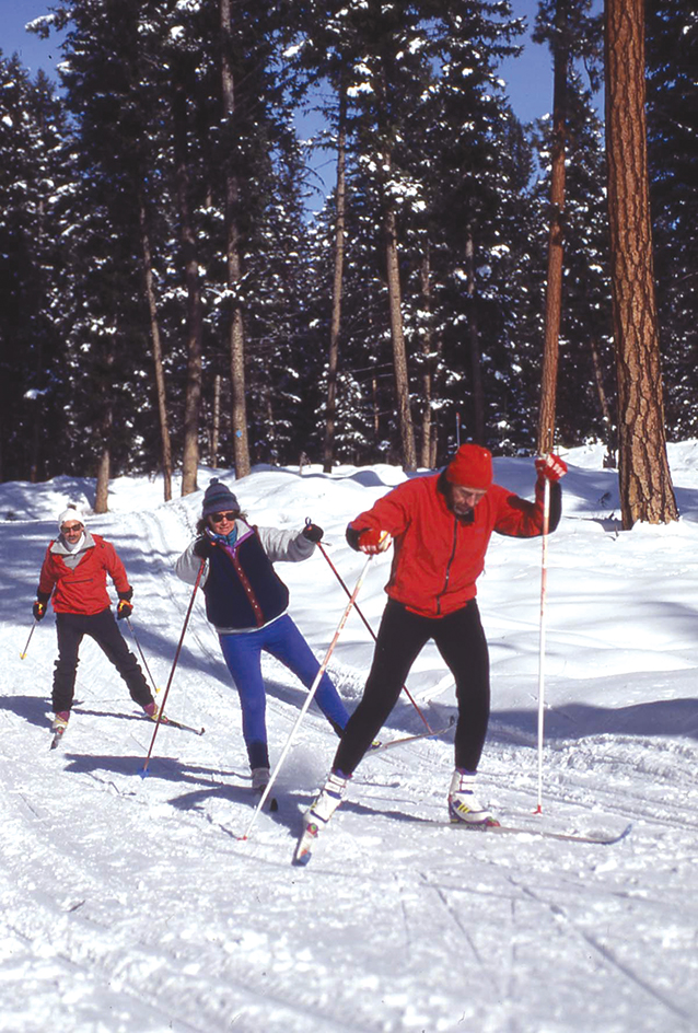
[[[400,694],[409,670],[433,639],[455,678],[455,766],[476,771],[489,721],[489,654],[475,600],[447,617],[421,617],[388,600],[361,703],[349,718],[333,770],[351,775]]]

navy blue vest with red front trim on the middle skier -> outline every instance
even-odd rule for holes
[[[203,594],[206,615],[217,628],[259,628],[289,605],[289,590],[254,529],[232,547],[214,543]]]

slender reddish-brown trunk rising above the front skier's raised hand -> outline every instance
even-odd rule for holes
[[[557,34],[552,58],[552,154],[550,176],[550,228],[548,231],[548,275],[545,292],[545,337],[538,409],[538,455],[547,455],[555,444],[555,415],[562,318],[562,264],[565,259],[565,152],[567,142],[567,80],[569,49],[566,43],[567,0],[558,0]]]

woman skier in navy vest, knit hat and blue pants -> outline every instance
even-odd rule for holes
[[[206,615],[218,632],[240,694],[252,787],[263,792],[269,780],[269,753],[261,653],[280,660],[306,688],[319,670],[287,613],[289,590],[274,564],[307,559],[323,531],[316,524],[301,532],[255,527],[247,523],[232,491],[214,479],[203,496],[197,532],[199,536],[178,558],[175,571],[183,581],[194,584],[201,561],[208,561],[201,579]],[[317,686],[315,699],[340,735],[349,715],[327,674]]]

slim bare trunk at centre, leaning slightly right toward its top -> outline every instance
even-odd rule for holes
[[[327,363],[327,410],[323,472],[331,473],[335,457],[335,421],[337,418],[337,368],[339,364],[339,328],[341,326],[341,290],[345,268],[345,227],[347,216],[347,94],[344,81],[339,94],[339,135],[337,139],[337,216],[335,223],[335,279],[333,282],[331,327]]]

